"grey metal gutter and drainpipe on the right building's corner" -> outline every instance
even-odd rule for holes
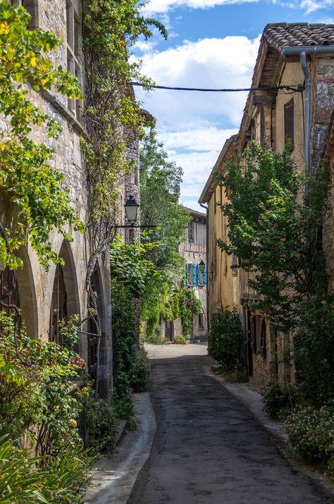
[[[284,47],[282,56],[299,56],[305,78],[305,124],[304,124],[304,164],[305,173],[311,173],[311,74],[307,66],[307,54],[334,54],[334,45]],[[305,196],[309,185],[305,186]]]

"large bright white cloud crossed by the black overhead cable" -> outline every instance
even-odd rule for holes
[[[178,87],[249,87],[259,47],[259,37],[206,38],[142,56],[143,72],[157,85]],[[138,92],[161,126],[187,129],[202,118],[239,125],[247,93],[184,92],[154,90]]]

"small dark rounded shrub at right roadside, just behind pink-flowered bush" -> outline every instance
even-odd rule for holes
[[[295,404],[295,388],[282,386],[276,379],[266,383],[261,390],[261,395],[264,401],[264,411],[274,419],[285,418]]]

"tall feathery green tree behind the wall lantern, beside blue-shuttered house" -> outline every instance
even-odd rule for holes
[[[180,316],[180,300],[183,304],[186,300],[184,259],[178,247],[185,237],[190,215],[178,204],[182,175],[182,168],[168,161],[168,154],[156,140],[155,133],[146,135],[140,150],[141,220],[142,224],[159,224],[159,227],[150,230],[142,240],[160,242],[149,255],[156,265],[156,274],[149,278],[141,298],[141,314],[147,321],[148,336],[154,335],[159,319]],[[181,318],[192,319],[190,311],[181,309]]]

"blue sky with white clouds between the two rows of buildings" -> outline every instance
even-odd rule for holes
[[[168,28],[138,42],[135,56],[158,85],[249,87],[267,23],[334,23],[334,0],[151,0],[145,13]],[[180,202],[197,200],[226,138],[237,133],[247,93],[136,90],[156,116],[170,159],[183,167]]]

